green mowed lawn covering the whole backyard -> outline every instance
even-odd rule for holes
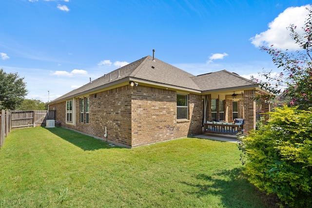
[[[14,130],[0,150],[0,207],[270,207],[239,153],[197,138],[130,150],[62,128]]]

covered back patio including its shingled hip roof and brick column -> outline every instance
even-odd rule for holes
[[[207,121],[232,125],[234,119],[240,118],[244,119],[243,129],[250,131],[255,129],[257,114],[270,111],[265,95],[271,94],[235,73],[222,70],[196,76],[194,80],[202,89],[203,127]]]

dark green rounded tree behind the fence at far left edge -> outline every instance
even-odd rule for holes
[[[0,109],[15,110],[27,95],[24,78],[0,69]]]

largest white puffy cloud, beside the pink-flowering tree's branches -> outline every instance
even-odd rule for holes
[[[300,49],[298,44],[292,40],[290,31],[287,30],[291,24],[297,27],[297,32],[303,33],[301,27],[304,26],[304,22],[307,19],[308,10],[306,7],[289,7],[284,12],[278,15],[272,22],[269,23],[269,29],[267,31],[256,34],[253,38],[250,38],[254,46],[271,46],[282,50],[298,50]]]

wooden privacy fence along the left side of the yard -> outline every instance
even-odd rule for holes
[[[4,137],[11,129],[38,127],[45,124],[46,120],[55,120],[55,111],[1,111],[0,115],[0,148],[4,144]]]

